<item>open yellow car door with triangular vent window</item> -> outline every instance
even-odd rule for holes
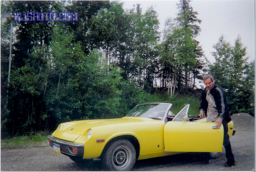
[[[221,152],[223,125],[217,123],[189,122],[189,105],[185,106],[172,121],[164,126],[164,147],[166,152]]]

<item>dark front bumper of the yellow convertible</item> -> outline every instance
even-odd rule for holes
[[[61,140],[61,139],[55,138],[53,136],[48,136],[47,138],[48,138],[48,141],[49,141],[49,144],[51,147],[52,147],[53,143],[60,145],[60,152],[64,155],[79,156],[79,157],[84,156],[84,145],[83,144],[78,144],[78,143],[74,143],[74,142],[67,141],[67,140]],[[76,153],[72,152],[72,147],[75,147],[77,149]]]

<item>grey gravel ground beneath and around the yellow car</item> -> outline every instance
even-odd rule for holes
[[[236,118],[237,119],[236,119]],[[244,125],[241,119],[253,120],[253,125]],[[233,116],[235,136],[230,138],[236,165],[224,167],[225,149],[220,158],[205,161],[206,153],[183,153],[148,160],[136,161],[133,171],[254,171],[255,129],[254,118],[247,115]],[[247,121],[247,123],[246,123]],[[53,153],[49,146],[1,150],[1,171],[104,171],[98,159],[88,164],[77,165],[65,155]]]

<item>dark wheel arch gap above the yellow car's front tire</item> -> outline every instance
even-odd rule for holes
[[[117,137],[110,139],[108,141],[108,143],[105,145],[105,147],[103,148],[100,158],[106,153],[106,151],[108,150],[108,147],[112,143],[114,143],[117,140],[122,140],[122,139],[126,139],[132,143],[132,145],[134,146],[135,151],[136,151],[136,159],[138,159],[138,157],[140,155],[140,143],[139,143],[138,139],[132,135],[122,135],[122,136],[117,136]]]

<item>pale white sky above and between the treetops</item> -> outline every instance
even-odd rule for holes
[[[179,10],[176,0],[125,0],[123,9],[134,8],[133,5],[140,4],[142,12],[149,7],[158,14],[159,32],[164,30],[164,22],[168,17],[176,18]],[[201,28],[196,40],[204,51],[204,55],[211,62],[215,62],[211,52],[215,49],[221,35],[230,43],[235,45],[238,36],[241,37],[243,47],[246,47],[248,62],[255,59],[255,13],[254,0],[192,0],[190,2],[193,11],[198,12],[197,19],[202,22],[197,24]],[[161,35],[162,36],[162,35]]]

